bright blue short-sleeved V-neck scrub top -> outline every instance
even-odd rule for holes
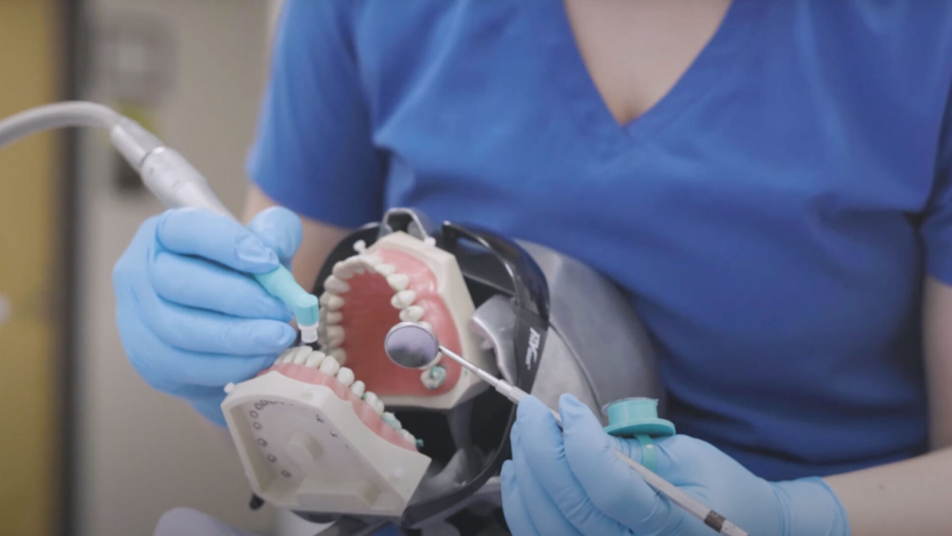
[[[735,0],[620,126],[562,2],[291,0],[248,172],[330,224],[412,206],[582,259],[630,291],[679,432],[826,475],[926,447],[950,74],[952,3]]]

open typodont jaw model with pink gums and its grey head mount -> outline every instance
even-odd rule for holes
[[[535,244],[394,209],[338,245],[314,294],[319,344],[229,385],[222,404],[255,493],[309,519],[413,527],[499,505],[514,407],[452,360],[390,361],[384,339],[401,321],[426,322],[447,349],[552,405],[564,392],[596,412],[660,395],[627,299]]]

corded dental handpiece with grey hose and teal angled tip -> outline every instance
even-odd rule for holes
[[[185,156],[166,147],[139,123],[109,108],[91,102],[60,102],[10,115],[0,121],[0,147],[21,137],[64,127],[97,127],[109,131],[109,139],[129,165],[142,177],[153,195],[169,208],[204,208],[237,220],[215,196],[205,176]],[[294,313],[301,340],[317,340],[318,299],[294,280],[288,268],[266,274],[251,274],[271,296],[283,301]]]

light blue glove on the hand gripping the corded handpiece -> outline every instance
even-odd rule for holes
[[[301,235],[300,218],[277,207],[248,228],[203,209],[146,220],[112,274],[132,366],[224,425],[224,386],[253,377],[296,337],[288,307],[247,274],[288,266]]]

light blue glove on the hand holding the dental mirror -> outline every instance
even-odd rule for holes
[[[526,397],[503,465],[503,510],[515,536],[714,536],[657,493],[612,447],[641,460],[637,440],[611,437],[591,411],[564,395],[565,438],[542,402]],[[843,506],[820,479],[771,483],[709,443],[656,441],[657,473],[751,536],[847,536]]]

